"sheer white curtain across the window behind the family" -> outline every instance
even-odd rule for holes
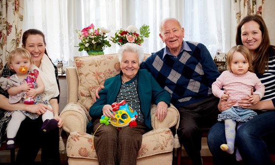
[[[110,29],[109,37],[129,25],[150,26],[150,37],[142,44],[145,53],[165,45],[159,37],[159,25],[167,17],[178,19],[185,28],[185,40],[205,44],[214,56],[230,48],[231,0],[25,0],[23,31],[36,28],[45,33],[47,51],[54,62],[73,65],[79,52],[76,29],[91,23]],[[235,33],[235,32],[233,32]],[[111,43],[111,41],[110,41]],[[116,53],[111,43],[105,54]]]

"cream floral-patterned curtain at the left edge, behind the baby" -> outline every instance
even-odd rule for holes
[[[0,1],[0,74],[9,52],[20,44],[23,3],[24,0]]]

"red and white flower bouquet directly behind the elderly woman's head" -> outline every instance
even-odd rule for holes
[[[149,25],[142,25],[139,30],[133,26],[130,25],[127,27],[126,30],[120,29],[114,33],[114,36],[110,37],[110,40],[113,43],[118,44],[119,46],[122,46],[123,44],[127,42],[136,43],[138,45],[141,45],[141,43],[144,42],[144,37],[148,38],[150,34]]]

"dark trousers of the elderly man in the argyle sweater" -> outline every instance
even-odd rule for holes
[[[201,128],[217,123],[219,99],[210,96],[203,101],[178,108],[180,124],[178,135],[193,165],[201,165]]]

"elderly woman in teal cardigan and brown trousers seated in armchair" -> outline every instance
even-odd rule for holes
[[[105,81],[104,90],[91,107],[92,120],[87,132],[94,133],[94,147],[99,165],[136,165],[142,134],[152,129],[150,104],[157,104],[157,116],[163,120],[170,104],[170,95],[162,89],[152,75],[145,69],[139,70],[144,58],[140,46],[126,43],[118,51],[120,74]],[[103,125],[102,115],[114,118],[111,104],[126,100],[138,112],[137,126],[122,127],[118,130],[112,125]]]

